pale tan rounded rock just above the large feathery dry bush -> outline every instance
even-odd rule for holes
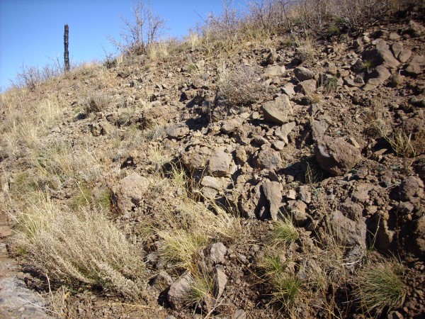
[[[132,211],[145,197],[149,188],[149,179],[132,173],[120,180],[113,188],[114,198],[122,213]]]

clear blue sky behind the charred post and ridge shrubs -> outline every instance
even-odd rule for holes
[[[152,0],[154,13],[166,20],[166,34],[182,36],[208,13],[220,13],[221,0]],[[234,0],[242,8],[244,0]],[[130,19],[132,0],[0,0],[0,89],[10,85],[22,65],[42,67],[63,61],[64,24],[69,25],[69,57],[103,60],[113,52],[107,40],[119,38],[122,21]]]

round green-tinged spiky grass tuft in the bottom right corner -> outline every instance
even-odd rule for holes
[[[399,262],[369,264],[358,273],[356,296],[368,315],[377,317],[384,310],[402,306],[407,286],[402,281],[404,269]]]

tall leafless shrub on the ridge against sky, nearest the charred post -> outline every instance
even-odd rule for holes
[[[165,28],[165,20],[154,15],[149,0],[137,0],[132,7],[132,14],[132,21],[121,17],[121,40],[109,40],[123,53],[141,55],[145,53],[148,45],[159,39]]]

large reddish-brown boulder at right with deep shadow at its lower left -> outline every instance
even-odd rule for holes
[[[344,138],[324,135],[314,145],[314,154],[320,167],[333,175],[342,175],[361,160],[361,153]]]

